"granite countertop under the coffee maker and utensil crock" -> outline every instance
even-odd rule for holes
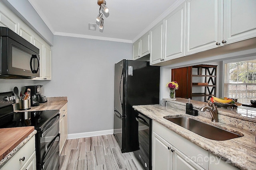
[[[59,110],[68,102],[67,97],[49,97],[46,103],[40,103],[39,106],[31,107],[31,109],[26,111],[44,111],[44,110]],[[19,110],[19,104],[15,104],[15,112],[23,112],[24,110]]]

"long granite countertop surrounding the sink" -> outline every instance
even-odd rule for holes
[[[186,100],[187,101],[187,100]],[[172,101],[170,101],[172,102]],[[255,131],[253,131],[252,127],[250,130],[248,128],[231,126],[226,123],[214,123],[211,121],[210,113],[208,111],[199,112],[199,115],[196,117],[185,114],[185,105],[180,110],[179,106],[175,107],[176,103],[183,102],[175,101],[173,102],[173,107],[165,107],[160,105],[144,105],[144,106],[133,106],[134,109],[140,111],[144,115],[150,117],[154,121],[160,123],[161,125],[167,127],[168,129],[174,131],[178,135],[188,139],[192,143],[198,145],[199,147],[208,150],[215,156],[221,157],[224,161],[228,160],[232,165],[240,168],[240,169],[250,169],[256,170],[256,143],[255,143]],[[169,103],[169,102],[168,102]],[[201,102],[201,104],[204,104]],[[194,105],[194,104],[193,104]],[[176,109],[179,108],[179,109]],[[219,109],[218,109],[219,110]],[[207,113],[208,112],[208,113]],[[201,114],[201,115],[200,115]],[[208,114],[206,116],[202,116],[202,114]],[[207,139],[193,133],[171,121],[164,119],[164,116],[178,116],[183,115],[187,117],[193,117],[198,121],[202,121],[211,125],[215,125],[217,127],[221,127],[222,129],[226,129],[228,131],[232,131],[234,133],[242,134],[243,137],[230,139],[226,141],[214,141],[211,139]],[[219,117],[220,114],[219,114]],[[222,118],[220,119],[222,121]],[[223,119],[224,120],[224,119]],[[238,122],[239,123],[239,122]],[[249,126],[250,126],[249,122]],[[252,123],[254,123],[252,121]]]

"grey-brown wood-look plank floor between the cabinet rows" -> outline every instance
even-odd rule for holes
[[[138,170],[129,153],[121,153],[114,135],[67,140],[60,170]]]

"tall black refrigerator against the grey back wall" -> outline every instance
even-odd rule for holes
[[[159,104],[160,67],[148,61],[122,60],[115,64],[114,136],[121,152],[139,149],[138,121],[132,106]]]

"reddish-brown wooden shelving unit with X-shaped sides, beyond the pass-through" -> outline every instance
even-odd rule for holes
[[[176,97],[206,102],[216,96],[217,66],[195,65],[172,69],[172,81],[177,81]]]

